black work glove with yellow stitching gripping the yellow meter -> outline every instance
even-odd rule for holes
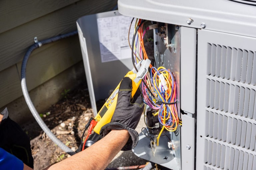
[[[104,137],[111,130],[128,130],[130,137],[122,150],[131,150],[138,143],[139,134],[134,129],[137,127],[143,113],[143,100],[141,89],[138,88],[133,98],[132,80],[124,77],[119,86],[116,109],[110,123],[103,126],[100,134]]]

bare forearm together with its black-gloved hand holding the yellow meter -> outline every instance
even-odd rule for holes
[[[84,151],[49,167],[53,169],[105,169],[114,156],[122,150],[130,150],[138,141],[137,127],[143,112],[141,90],[133,98],[132,80],[123,78],[117,98],[114,115],[107,125],[101,128],[103,138]]]

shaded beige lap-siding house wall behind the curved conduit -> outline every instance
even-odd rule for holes
[[[20,85],[21,62],[28,47],[34,43],[34,37],[40,41],[74,31],[78,18],[110,11],[116,4],[117,0],[0,1],[1,110],[8,106],[10,117],[20,124],[31,118],[26,104],[17,107],[17,102],[24,103]],[[74,84],[85,81],[81,61],[78,35],[43,45],[32,52],[26,69],[28,90],[41,96],[41,101],[49,98],[42,93],[54,96],[43,104],[32,99],[36,108],[40,103],[39,112],[57,102],[61,90],[72,89]],[[54,82],[54,90],[42,90],[42,86],[51,82]]]

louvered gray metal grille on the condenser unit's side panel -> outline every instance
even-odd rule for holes
[[[207,44],[204,170],[256,169],[256,52]]]

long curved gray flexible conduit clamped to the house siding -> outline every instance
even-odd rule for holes
[[[43,129],[43,131],[50,137],[50,139],[56,143],[63,151],[65,151],[66,153],[68,153],[69,155],[74,155],[76,152],[72,151],[69,147],[67,147],[64,143],[62,143],[52,132],[51,130],[45,125],[44,121],[41,119],[41,117],[39,116],[38,112],[36,111],[36,108],[34,107],[30,97],[29,97],[29,93],[27,90],[27,84],[26,84],[26,66],[27,66],[27,62],[28,62],[28,58],[30,56],[30,54],[32,53],[32,51],[36,48],[39,48],[40,46],[44,45],[44,44],[48,44],[51,42],[55,42],[73,35],[76,35],[78,33],[78,31],[73,31],[67,34],[63,34],[63,35],[59,35],[56,37],[52,37],[40,42],[35,42],[33,45],[31,45],[29,47],[29,49],[27,50],[23,60],[22,60],[22,65],[21,65],[21,88],[22,88],[22,92],[24,95],[24,98],[26,100],[26,103],[29,107],[29,110],[31,111],[32,115],[34,116],[34,118],[36,119],[37,123],[39,124],[39,126]]]

